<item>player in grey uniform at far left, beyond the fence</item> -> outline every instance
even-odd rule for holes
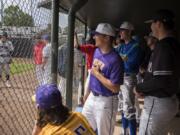
[[[10,79],[10,63],[11,63],[11,54],[14,50],[12,42],[9,41],[8,34],[6,32],[1,33],[0,38],[0,79],[2,79],[2,72],[5,71],[6,75],[6,86],[11,87],[9,82]]]

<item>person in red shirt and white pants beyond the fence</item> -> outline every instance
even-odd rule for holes
[[[43,70],[42,70],[42,52],[45,44],[40,37],[37,37],[36,44],[34,45],[33,55],[34,63],[36,64],[36,77],[39,85],[43,84]]]

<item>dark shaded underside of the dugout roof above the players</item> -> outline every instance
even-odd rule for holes
[[[62,12],[67,13],[75,0],[60,0]],[[39,3],[39,6],[50,8],[51,0]],[[119,27],[123,21],[135,25],[136,32],[144,33],[149,27],[144,21],[158,9],[170,9],[176,16],[176,25],[180,24],[178,0],[89,0],[77,13],[77,17],[87,23],[89,28],[95,28],[100,22],[108,22]],[[177,25],[177,30],[180,27]]]

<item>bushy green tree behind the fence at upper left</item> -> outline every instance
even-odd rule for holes
[[[32,16],[23,12],[17,5],[11,5],[4,10],[3,23],[6,26],[34,26]]]

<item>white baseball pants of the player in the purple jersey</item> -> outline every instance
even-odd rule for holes
[[[116,113],[118,108],[118,96],[94,96],[92,92],[88,96],[82,114],[87,118],[98,135],[113,135]]]

